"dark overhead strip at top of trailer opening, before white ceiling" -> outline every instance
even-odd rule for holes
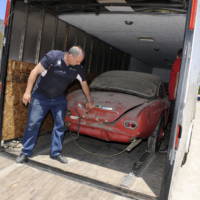
[[[56,15],[66,12],[92,12],[96,14],[127,11],[144,12],[151,9],[154,11],[165,9],[184,13],[188,8],[188,0],[24,0],[24,2],[45,6],[53,10]],[[124,9],[112,10],[113,7],[124,7]]]

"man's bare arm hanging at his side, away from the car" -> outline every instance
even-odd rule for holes
[[[33,89],[33,85],[34,85],[34,83],[36,81],[36,78],[38,77],[39,74],[41,74],[44,71],[45,71],[45,69],[40,63],[37,64],[34,67],[34,69],[31,71],[31,73],[30,73],[30,75],[28,77],[26,90],[25,90],[25,93],[24,93],[23,98],[22,98],[22,102],[25,105],[27,105],[31,101],[31,91]]]

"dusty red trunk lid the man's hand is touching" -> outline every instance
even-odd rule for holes
[[[148,101],[144,98],[115,92],[93,91],[91,95],[95,107],[88,112],[84,106],[86,100],[81,90],[68,95],[68,109],[71,111],[72,118],[78,115],[87,120],[112,122],[127,110]]]

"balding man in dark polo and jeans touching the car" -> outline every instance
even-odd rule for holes
[[[41,122],[47,112],[51,111],[54,128],[50,157],[62,163],[67,163],[67,159],[61,155],[65,131],[64,117],[67,107],[65,90],[75,79],[79,80],[86,96],[86,108],[92,108],[89,87],[81,66],[83,59],[84,52],[78,46],[71,47],[68,52],[52,50],[31,71],[22,99],[25,105],[29,103],[28,121],[23,137],[23,149],[16,162],[28,161],[28,157],[32,155],[36,144]]]

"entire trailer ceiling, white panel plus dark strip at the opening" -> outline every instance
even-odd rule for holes
[[[182,47],[186,0],[25,0],[131,54],[169,68]]]

